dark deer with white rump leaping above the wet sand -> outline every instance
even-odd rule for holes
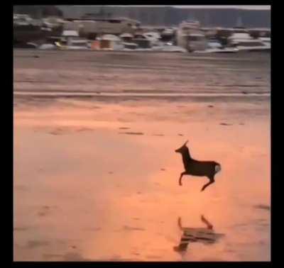
[[[214,161],[198,161],[190,156],[190,150],[187,147],[188,140],[182,147],[175,150],[182,155],[182,162],[185,167],[185,171],[180,173],[179,184],[182,186],[182,176],[192,175],[198,177],[207,177],[209,182],[202,186],[201,191],[204,191],[210,184],[215,182],[214,176],[217,172],[221,171],[221,164]]]

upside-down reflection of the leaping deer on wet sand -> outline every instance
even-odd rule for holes
[[[204,244],[214,244],[224,236],[221,233],[215,233],[213,225],[209,221],[201,216],[201,221],[206,225],[206,228],[189,228],[182,227],[181,218],[178,218],[178,227],[182,230],[182,236],[180,238],[180,244],[173,247],[177,252],[184,252],[187,250],[187,246],[190,242],[202,242]]]

